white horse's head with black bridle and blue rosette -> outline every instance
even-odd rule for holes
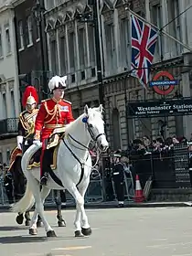
[[[101,151],[106,151],[109,144],[104,133],[104,122],[102,120],[102,105],[99,108],[84,108],[84,117],[82,122],[86,124],[86,128],[93,140]]]

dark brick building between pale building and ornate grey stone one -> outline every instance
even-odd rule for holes
[[[37,2],[40,3],[39,9]],[[48,50],[43,17],[44,3],[36,0],[17,0],[14,7],[21,91],[25,90],[25,83],[33,85],[37,88],[41,99],[43,83],[47,83],[43,77],[48,72]]]

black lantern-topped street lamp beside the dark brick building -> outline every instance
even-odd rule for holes
[[[45,55],[44,55],[44,44],[43,44],[43,31],[42,31],[42,23],[45,24],[44,21],[44,13],[46,9],[44,6],[42,6],[37,0],[36,5],[32,8],[32,13],[34,16],[34,19],[37,22],[37,29],[39,32],[39,43],[40,43],[40,51],[41,51],[41,68],[43,71],[43,90],[42,90],[42,96],[43,99],[46,99],[48,97],[48,78],[47,78],[47,70],[46,70],[46,64],[45,64]]]

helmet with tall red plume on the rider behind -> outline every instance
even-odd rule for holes
[[[22,105],[26,108],[26,105],[37,104],[38,102],[38,95],[37,90],[33,86],[27,86],[26,91],[23,94],[22,98]]]

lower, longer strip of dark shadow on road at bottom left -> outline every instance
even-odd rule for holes
[[[15,236],[15,237],[2,237],[0,238],[0,243],[8,244],[8,243],[26,243],[26,242],[42,242],[47,241],[47,238],[43,237],[22,237],[22,236]]]

